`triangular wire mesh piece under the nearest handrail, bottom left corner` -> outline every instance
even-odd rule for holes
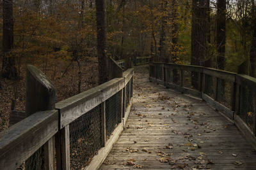
[[[26,160],[25,164],[22,164],[19,169],[26,170],[43,170],[44,169],[44,146],[40,147],[29,159]]]

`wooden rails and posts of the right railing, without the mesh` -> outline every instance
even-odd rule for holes
[[[173,88],[175,90],[178,90],[183,93],[189,93],[192,95],[195,95],[197,97],[202,97],[204,101],[211,104],[216,108],[216,110],[219,110],[223,112],[227,117],[234,120],[237,127],[241,130],[241,132],[244,133],[246,136],[246,139],[250,141],[250,143],[253,145],[254,148],[256,148],[256,116],[254,116],[253,120],[253,127],[254,129],[250,129],[248,125],[246,125],[242,118],[239,117],[240,112],[240,104],[241,104],[241,87],[248,87],[247,89],[250,91],[251,96],[256,96],[256,78],[253,78],[251,76],[247,76],[245,74],[237,74],[232,73],[229,71],[223,71],[219,69],[213,69],[209,67],[201,67],[201,66],[192,66],[192,65],[182,65],[182,64],[172,64],[172,63],[162,63],[162,62],[152,62],[149,63],[150,66],[150,81],[156,81],[157,83],[160,83],[162,85],[165,85],[166,87]],[[179,70],[179,85],[170,82],[167,80],[166,75],[168,71],[170,70]],[[157,71],[161,71],[160,73],[157,73]],[[188,72],[194,72],[198,73],[198,87],[199,89],[191,89],[188,87],[184,87],[184,71]],[[161,74],[159,76],[159,74]],[[205,94],[205,83],[209,83],[206,80],[206,76],[212,76],[216,78],[216,87],[213,89],[214,91],[214,97],[210,97],[207,94]],[[229,83],[232,83],[231,86],[231,94],[230,94],[230,108],[227,108],[227,106],[223,106],[220,101],[218,101],[218,90],[225,90],[225,87],[221,87],[221,81],[228,81]],[[213,80],[212,80],[213,81]],[[220,87],[218,87],[220,86]],[[255,106],[254,106],[255,107]],[[236,114],[235,114],[236,113]],[[250,114],[256,114],[256,113],[250,113]],[[253,117],[252,117],[253,118]],[[246,126],[246,127],[245,127]]]

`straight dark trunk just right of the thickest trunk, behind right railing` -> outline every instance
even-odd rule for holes
[[[217,68],[225,67],[226,1],[217,0]]]

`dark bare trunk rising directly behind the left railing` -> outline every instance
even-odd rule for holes
[[[106,20],[106,1],[96,0],[97,18],[97,50],[99,62],[99,83],[102,84],[109,80],[109,65],[107,54],[107,20]]]

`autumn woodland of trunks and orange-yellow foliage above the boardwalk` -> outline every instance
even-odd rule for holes
[[[22,60],[36,58],[47,67],[54,57],[81,69],[84,56],[99,57],[102,82],[108,80],[108,57],[152,56],[198,66],[210,60],[209,66],[228,71],[250,60],[255,76],[254,0],[4,0],[2,5],[4,78],[17,78]]]

